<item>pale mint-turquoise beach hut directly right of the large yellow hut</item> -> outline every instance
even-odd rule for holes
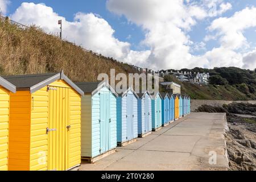
[[[117,147],[118,94],[106,81],[76,84],[85,93],[81,104],[81,156],[93,163]]]

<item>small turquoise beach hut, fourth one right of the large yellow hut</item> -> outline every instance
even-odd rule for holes
[[[162,96],[158,92],[152,96],[152,131],[162,127]]]

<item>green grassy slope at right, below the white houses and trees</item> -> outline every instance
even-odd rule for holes
[[[181,85],[181,92],[187,93],[192,99],[203,100],[256,100],[255,94],[242,93],[233,85],[200,86],[181,82],[174,76],[165,77],[166,81],[175,81]]]

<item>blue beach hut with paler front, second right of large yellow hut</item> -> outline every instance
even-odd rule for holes
[[[138,98],[132,88],[117,98],[117,145],[124,146],[138,138]]]

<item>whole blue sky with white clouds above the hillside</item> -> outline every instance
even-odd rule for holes
[[[1,1],[7,0],[0,0],[0,8]],[[254,69],[255,6],[256,1],[249,0],[9,0],[5,15],[20,23],[38,24],[46,32],[57,31],[55,19],[65,18],[69,41],[141,67]],[[82,15],[77,16],[79,12]],[[51,16],[51,23],[46,23],[46,16]],[[106,32],[86,30],[93,26]],[[77,36],[70,35],[75,31]],[[212,39],[207,40],[209,36]],[[102,46],[96,40],[104,37]]]

